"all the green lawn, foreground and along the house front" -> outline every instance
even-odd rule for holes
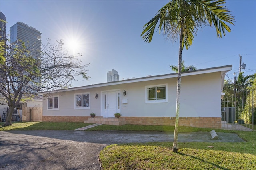
[[[1,123],[2,125],[3,123]],[[90,124],[28,122],[0,127],[0,130],[74,130]],[[173,132],[173,126],[100,125],[88,130],[127,130]],[[208,131],[209,128],[179,127],[179,132]],[[103,170],[252,170],[256,169],[256,125],[254,131],[215,129],[236,133],[245,142],[180,142],[178,153],[172,152],[172,141],[113,144],[100,152]],[[208,147],[213,146],[213,147]]]

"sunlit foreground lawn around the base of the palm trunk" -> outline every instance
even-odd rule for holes
[[[256,131],[226,132],[245,142],[178,142],[178,153],[173,141],[113,144],[100,152],[102,170],[255,170]]]

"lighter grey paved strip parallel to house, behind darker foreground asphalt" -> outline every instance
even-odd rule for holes
[[[216,132],[218,140],[213,140],[210,132],[179,133],[178,142],[243,142],[237,134]],[[138,132],[138,131],[78,131],[78,130],[28,130],[7,131],[2,134],[23,134],[38,137],[89,142],[95,144],[121,144],[173,141],[173,132]],[[2,136],[1,136],[2,137]],[[2,141],[1,141],[2,142]],[[2,149],[2,148],[1,148]]]

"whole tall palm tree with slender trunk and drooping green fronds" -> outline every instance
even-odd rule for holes
[[[176,40],[179,37],[179,64],[176,100],[176,119],[174,130],[174,142],[172,150],[178,152],[178,122],[180,110],[180,85],[182,68],[182,50],[192,45],[194,35],[203,26],[216,28],[217,37],[225,36],[225,30],[231,31],[225,23],[233,24],[234,17],[224,6],[225,0],[172,0],[162,7],[148,23],[144,25],[142,39],[151,42],[156,25],[159,22],[159,33],[161,30],[167,38]],[[233,24],[234,25],[234,24]]]

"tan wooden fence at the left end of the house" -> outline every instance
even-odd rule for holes
[[[22,122],[40,122],[43,121],[42,105],[35,107],[22,107]]]

